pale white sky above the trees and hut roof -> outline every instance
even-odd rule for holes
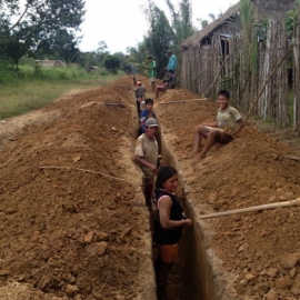
[[[178,4],[179,0],[172,0]],[[209,13],[218,16],[238,0],[190,0],[192,3],[193,24],[200,28],[197,19],[210,20]],[[111,53],[123,52],[128,47],[136,47],[147,34],[148,23],[142,11],[147,0],[86,0],[86,20],[81,24],[83,36],[79,49],[82,52],[94,51],[100,41],[106,41]],[[154,3],[166,12],[169,9],[164,0]]]

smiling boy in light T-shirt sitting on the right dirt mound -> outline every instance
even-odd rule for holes
[[[188,157],[196,156],[193,162],[198,162],[206,158],[209,149],[217,142],[226,144],[233,140],[233,136],[243,127],[243,120],[239,111],[229,106],[230,94],[227,90],[218,93],[218,113],[217,121],[197,126],[194,129],[194,146],[192,153]],[[202,137],[207,139],[203,149],[199,152]]]

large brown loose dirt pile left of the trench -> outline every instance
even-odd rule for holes
[[[132,94],[123,78],[1,123],[1,299],[153,299]]]

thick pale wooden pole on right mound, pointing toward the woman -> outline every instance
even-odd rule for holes
[[[226,216],[232,216],[232,214],[239,214],[243,212],[250,212],[250,211],[259,211],[259,210],[266,210],[266,209],[273,209],[273,208],[288,208],[288,207],[299,207],[300,206],[300,198],[297,198],[296,200],[284,201],[284,202],[277,202],[271,204],[262,204],[251,208],[243,208],[243,209],[234,209],[234,210],[228,210],[222,212],[214,212],[201,216],[199,219],[211,219],[211,218],[218,218],[218,217],[226,217]]]

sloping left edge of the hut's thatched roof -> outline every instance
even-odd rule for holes
[[[213,22],[209,23],[206,28],[202,30],[196,32],[193,36],[189,37],[188,39],[183,40],[181,42],[181,47],[188,47],[188,46],[197,46],[199,42],[208,37],[212,31],[214,31],[218,27],[222,26],[228,19],[230,19],[232,16],[239,12],[240,3],[232,6],[229,8],[222,17],[214,20]]]

